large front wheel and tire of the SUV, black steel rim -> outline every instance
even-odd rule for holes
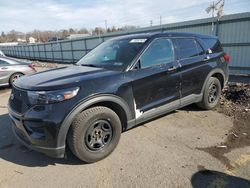
[[[112,153],[120,140],[121,131],[121,121],[113,110],[101,106],[92,107],[73,120],[67,141],[76,157],[92,163]]]

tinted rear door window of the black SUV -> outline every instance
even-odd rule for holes
[[[203,49],[195,39],[180,38],[175,39],[179,51],[179,58],[191,58],[203,54]]]

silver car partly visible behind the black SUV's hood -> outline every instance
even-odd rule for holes
[[[0,56],[0,86],[12,85],[19,77],[36,72],[31,62]]]

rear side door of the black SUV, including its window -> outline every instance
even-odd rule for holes
[[[182,98],[191,94],[200,94],[203,82],[210,71],[206,63],[204,49],[195,38],[174,39],[177,61],[181,64]]]

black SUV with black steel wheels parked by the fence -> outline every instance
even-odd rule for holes
[[[14,133],[49,156],[64,157],[67,145],[79,159],[98,161],[124,130],[191,103],[214,108],[229,59],[212,36],[151,33],[108,40],[74,66],[17,80],[8,105]]]

